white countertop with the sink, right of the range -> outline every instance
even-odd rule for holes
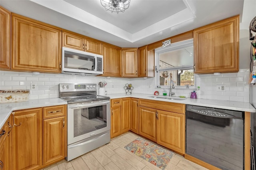
[[[107,96],[109,96],[110,99],[134,97],[134,98],[140,98],[140,99],[150,99],[150,100],[157,100],[157,101],[168,101],[168,102],[173,102],[173,103],[183,103],[186,105],[214,107],[214,108],[219,108],[219,109],[228,109],[228,110],[235,110],[235,111],[246,111],[246,112],[251,112],[251,113],[256,112],[256,109],[250,103],[238,102],[238,101],[221,101],[221,100],[211,100],[211,99],[190,99],[190,98],[186,98],[185,100],[170,100],[170,99],[153,98],[154,95],[140,94],[140,93],[132,93],[131,95],[130,94],[126,95],[125,93],[118,93],[118,94],[110,94]],[[157,96],[154,96],[154,97],[157,97]],[[169,96],[159,95],[158,97],[169,97]],[[178,98],[178,97],[176,97],[176,98]]]

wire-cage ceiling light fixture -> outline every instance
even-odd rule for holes
[[[107,11],[124,12],[129,8],[131,0],[100,0],[100,3]]]

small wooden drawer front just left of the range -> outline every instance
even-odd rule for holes
[[[66,105],[44,107],[44,119],[66,115]]]

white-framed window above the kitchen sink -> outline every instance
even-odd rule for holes
[[[193,40],[156,49],[157,87],[169,87],[171,79],[179,88],[195,87],[193,54]]]

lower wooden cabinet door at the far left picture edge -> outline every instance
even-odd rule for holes
[[[9,170],[7,123],[0,129],[0,170]]]

